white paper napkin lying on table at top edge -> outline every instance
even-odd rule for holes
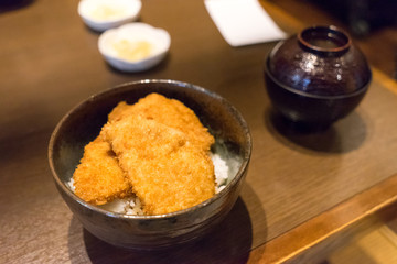
[[[287,36],[258,0],[205,0],[222,36],[232,46],[282,40]]]

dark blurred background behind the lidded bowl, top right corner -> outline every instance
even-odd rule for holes
[[[347,31],[369,64],[397,79],[396,0],[270,0],[304,24]]]

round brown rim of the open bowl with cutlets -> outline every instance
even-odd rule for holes
[[[169,212],[169,213],[162,213],[162,215],[152,215],[152,216],[135,216],[135,215],[126,215],[126,213],[119,213],[119,212],[111,212],[105,209],[101,209],[97,206],[90,205],[88,202],[86,202],[85,200],[83,200],[82,198],[79,198],[77,195],[75,195],[67,186],[66,183],[64,183],[63,180],[61,180],[60,176],[57,175],[56,170],[55,170],[55,165],[53,163],[53,152],[54,152],[54,143],[57,139],[58,135],[58,131],[61,130],[62,125],[65,123],[65,121],[68,119],[68,117],[71,114],[73,114],[75,111],[79,110],[81,108],[85,107],[85,105],[89,103],[90,101],[95,100],[96,98],[100,98],[104,97],[106,94],[109,92],[116,92],[117,90],[121,90],[125,87],[128,86],[133,86],[133,85],[138,85],[138,84],[171,84],[171,85],[175,85],[178,87],[185,87],[189,89],[194,89],[198,92],[203,92],[206,94],[213,98],[215,98],[216,100],[221,100],[222,102],[224,102],[227,108],[229,110],[232,110],[233,114],[236,117],[237,121],[240,123],[244,133],[247,136],[247,152],[245,152],[245,155],[243,157],[242,161],[242,165],[239,166],[238,170],[236,172],[236,175],[234,176],[234,178],[225,186],[225,188],[223,190],[221,190],[218,194],[214,194],[213,197],[211,197],[210,199],[202,201],[198,205],[195,205],[193,207],[183,209],[183,210],[179,210],[179,211],[174,211],[174,212]],[[160,92],[161,94],[161,92]],[[172,79],[141,79],[141,80],[136,80],[136,81],[128,81],[128,82],[124,82],[120,85],[116,85],[111,88],[101,90],[99,92],[96,92],[94,95],[92,95],[90,97],[82,100],[81,102],[78,102],[76,106],[74,106],[68,112],[66,112],[62,119],[58,121],[58,123],[56,124],[54,131],[51,134],[50,138],[50,142],[49,142],[49,147],[47,147],[47,157],[49,157],[49,163],[50,163],[50,168],[51,168],[51,173],[52,173],[52,177],[55,180],[56,185],[68,196],[71,197],[74,201],[81,204],[81,206],[85,207],[88,210],[93,210],[96,211],[97,213],[100,215],[106,215],[107,217],[111,217],[111,218],[117,218],[117,219],[131,219],[131,220],[155,220],[155,219],[170,219],[170,218],[174,218],[181,215],[185,215],[185,213],[192,213],[197,209],[207,207],[208,205],[215,202],[216,200],[218,200],[221,198],[221,196],[226,196],[228,193],[232,191],[232,187],[237,185],[237,183],[243,178],[249,161],[250,161],[250,156],[251,156],[251,151],[253,151],[253,139],[251,139],[251,134],[249,131],[249,127],[247,124],[247,122],[245,121],[245,119],[243,118],[243,114],[225,98],[221,97],[218,94],[211,91],[208,89],[205,89],[201,86],[197,85],[193,85],[190,82],[185,82],[185,81],[179,81],[179,80],[172,80]]]

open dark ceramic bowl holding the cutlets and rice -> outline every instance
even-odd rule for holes
[[[84,146],[98,135],[107,114],[119,101],[135,103],[150,92],[182,101],[210,129],[217,144],[222,142],[227,150],[224,157],[235,168],[229,174],[227,186],[197,206],[158,216],[127,216],[85,202],[67,187]],[[49,161],[60,194],[85,229],[114,245],[159,249],[198,238],[225,218],[238,198],[250,153],[251,138],[247,123],[228,101],[186,82],[141,80],[94,95],[73,108],[51,136]]]

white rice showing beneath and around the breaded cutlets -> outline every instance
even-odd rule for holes
[[[211,153],[211,158],[215,167],[215,194],[218,194],[226,187],[229,176],[233,177],[233,175],[235,175],[236,172],[234,168],[236,166],[234,165],[237,165],[237,160],[227,158],[226,162],[222,153]],[[71,188],[72,191],[75,191],[73,178],[71,178],[71,180],[66,183],[66,185]],[[130,216],[143,215],[142,204],[137,196],[128,197],[125,199],[115,199],[110,202],[99,206],[99,208]]]

